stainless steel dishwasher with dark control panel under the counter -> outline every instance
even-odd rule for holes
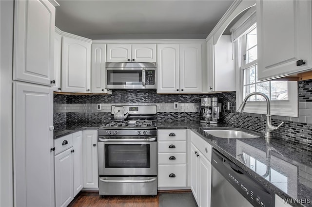
[[[275,194],[213,149],[211,207],[274,207]]]

